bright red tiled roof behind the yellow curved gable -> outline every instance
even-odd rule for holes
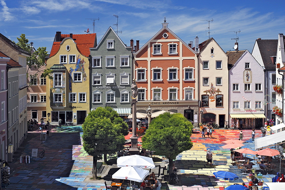
[[[50,57],[54,56],[59,48],[60,43],[64,38],[69,38],[70,34],[61,34],[60,42],[54,42],[52,44],[52,49],[50,51]],[[78,51],[88,57],[90,55],[90,49],[95,47],[95,39],[96,39],[96,33],[95,34],[73,34],[72,38],[75,39],[76,47]],[[55,38],[56,39],[56,38]]]

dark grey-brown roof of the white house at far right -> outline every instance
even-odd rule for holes
[[[276,56],[278,40],[256,40],[265,69],[275,70],[271,56]]]

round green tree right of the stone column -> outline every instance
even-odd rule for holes
[[[169,159],[169,175],[173,173],[173,160],[192,148],[193,125],[181,113],[165,112],[153,119],[142,137],[143,148]]]

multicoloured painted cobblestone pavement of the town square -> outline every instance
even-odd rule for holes
[[[254,150],[251,141],[251,130],[243,130],[246,141],[243,148]],[[103,183],[84,182],[91,172],[93,159],[82,147],[81,126],[54,127],[52,137],[41,144],[40,131],[29,132],[27,139],[15,152],[13,162],[10,163],[10,184],[7,189],[104,189]],[[225,141],[238,138],[238,130],[218,129],[213,132],[214,138],[201,138],[201,134],[194,132],[191,150],[179,154],[175,166],[180,169],[181,181],[179,186],[162,183],[162,190],[217,190],[223,189],[225,181],[213,177],[213,172],[224,170],[234,172],[239,176],[235,183],[248,184],[248,175],[242,175],[236,166],[231,164],[229,149],[221,149]],[[262,136],[257,130],[256,138]],[[43,158],[31,158],[30,164],[20,164],[22,154],[31,155],[32,148],[46,148]],[[213,167],[207,166],[205,155],[207,149],[213,153]],[[39,153],[38,153],[39,155]],[[247,155],[252,158],[253,155]],[[157,156],[158,158],[161,158]],[[158,159],[157,159],[158,160]],[[158,162],[159,164],[159,162]],[[254,167],[257,167],[254,165]],[[258,171],[259,172],[259,171]],[[264,175],[263,181],[271,181],[275,175]],[[226,186],[233,181],[226,181]]]

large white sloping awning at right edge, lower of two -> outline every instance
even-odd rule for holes
[[[255,139],[255,149],[267,148],[273,144],[282,144],[285,141],[285,131]]]

